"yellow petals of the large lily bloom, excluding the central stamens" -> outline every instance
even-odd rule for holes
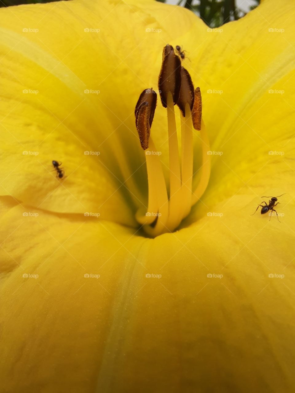
[[[147,0],[0,10],[2,391],[294,390],[295,6],[279,3],[219,30]],[[134,109],[167,43],[201,90],[211,173],[149,238]],[[166,113],[151,136],[169,184]],[[193,147],[195,189],[197,130]],[[281,222],[251,216],[283,193]]]

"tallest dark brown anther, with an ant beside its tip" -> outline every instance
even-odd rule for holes
[[[171,92],[173,104],[178,101],[181,84],[181,60],[175,55],[173,46],[167,44],[163,49],[162,67],[159,75],[159,94],[164,108],[167,108],[167,95]]]

